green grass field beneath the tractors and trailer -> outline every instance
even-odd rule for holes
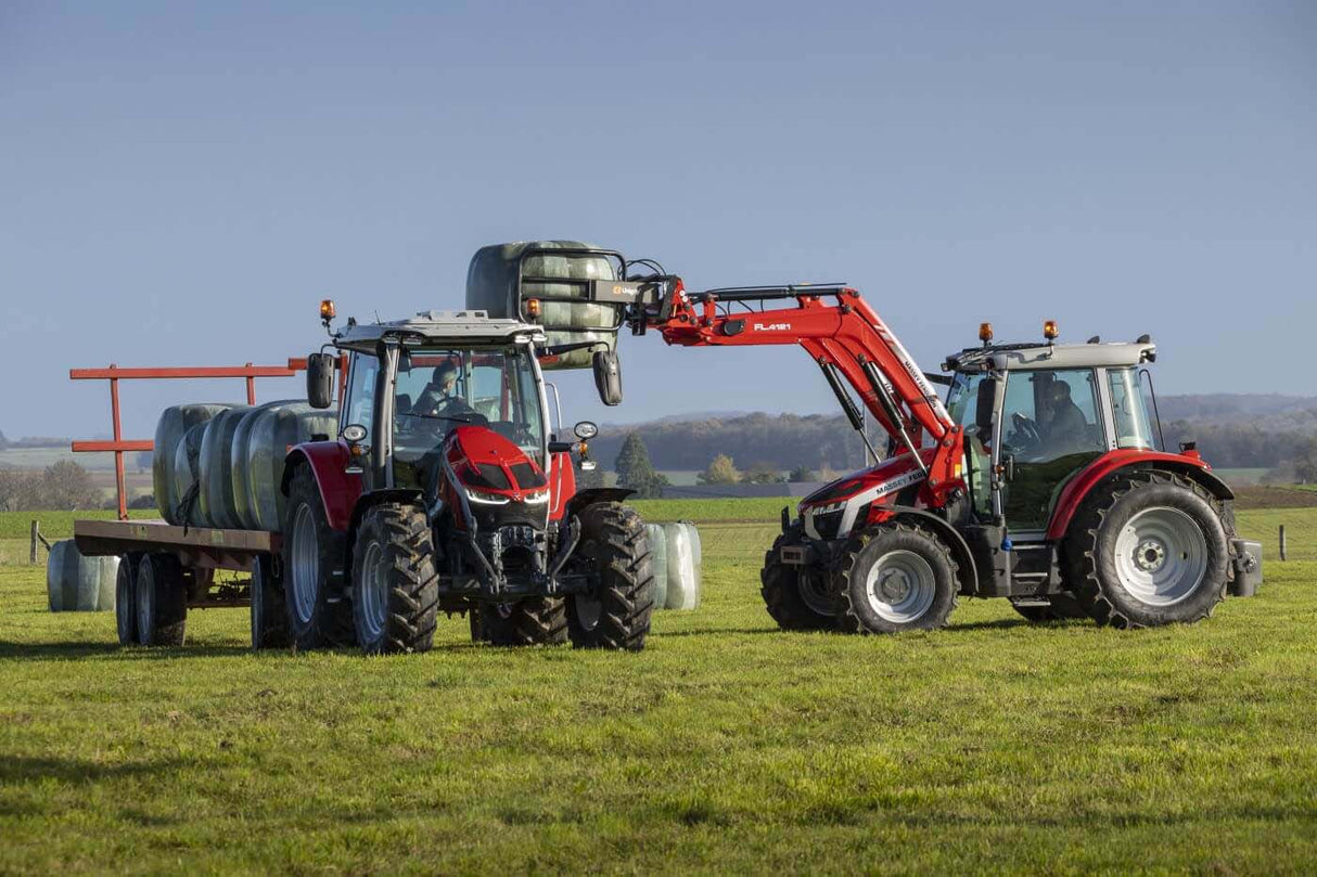
[[[780,506],[645,504],[706,602],[640,654],[257,656],[245,610],[121,651],[3,566],[0,873],[1317,868],[1317,510],[1241,512],[1267,585],[1195,627],[848,637],[764,614]]]

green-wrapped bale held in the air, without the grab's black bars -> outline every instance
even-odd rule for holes
[[[579,241],[519,241],[482,246],[471,257],[466,271],[466,307],[487,311],[491,317],[525,320],[545,328],[549,345],[598,341],[601,346],[573,350],[545,369],[587,369],[595,350],[612,350],[618,345],[622,306],[589,302],[589,288],[579,283],[523,283],[522,299],[570,296],[579,302],[544,302],[539,317],[531,317],[518,300],[518,261],[532,248],[598,249]],[[562,278],[572,280],[616,280],[616,261],[603,255],[536,254],[522,266],[524,277]]]

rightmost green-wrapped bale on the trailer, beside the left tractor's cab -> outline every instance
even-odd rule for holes
[[[270,406],[244,417],[252,420],[246,432],[245,457],[241,475],[246,481],[246,510],[244,523],[250,529],[278,533],[283,529],[286,496],[283,461],[288,448],[311,441],[316,433],[333,435],[338,425],[338,412],[333,408],[312,408],[306,402]],[[242,429],[240,424],[238,429]],[[240,449],[234,445],[234,453]],[[238,477],[238,457],[234,457],[234,479]]]

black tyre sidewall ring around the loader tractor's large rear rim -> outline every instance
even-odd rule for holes
[[[1139,600],[1126,590],[1115,569],[1115,543],[1121,531],[1134,515],[1150,508],[1175,508],[1187,514],[1202,531],[1208,549],[1208,565],[1198,587],[1171,606],[1152,606]],[[1093,541],[1093,565],[1102,597],[1112,603],[1117,614],[1134,624],[1147,627],[1193,622],[1206,616],[1221,600],[1229,554],[1225,529],[1216,510],[1193,490],[1176,483],[1143,483],[1119,496],[1102,515],[1102,523]]]

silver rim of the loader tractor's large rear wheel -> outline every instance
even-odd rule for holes
[[[1208,537],[1179,508],[1146,508],[1115,537],[1115,571],[1130,595],[1172,606],[1198,590],[1208,571]]]

